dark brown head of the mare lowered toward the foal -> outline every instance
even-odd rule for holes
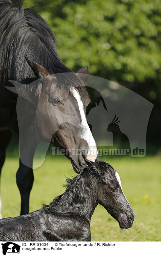
[[[86,165],[83,152],[89,160],[95,161],[97,157],[95,140],[85,116],[90,98],[82,78],[87,73],[87,67],[78,69],[76,73],[53,74],[27,57],[26,59],[39,78],[35,92],[39,135],[56,147],[66,149],[74,171],[79,172]]]

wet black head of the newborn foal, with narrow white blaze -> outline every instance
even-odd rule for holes
[[[99,204],[120,224],[120,228],[132,227],[134,213],[122,191],[120,176],[111,165],[99,159],[96,162],[85,159],[93,174],[95,196]]]

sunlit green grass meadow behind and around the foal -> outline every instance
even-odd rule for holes
[[[161,159],[154,157],[103,158],[118,171],[122,188],[135,213],[130,229],[119,229],[102,206],[97,206],[91,219],[92,241],[160,241],[161,240]],[[17,216],[20,212],[20,194],[16,185],[18,159],[7,157],[2,169],[2,215]],[[35,182],[31,191],[30,211],[48,204],[64,192],[65,176],[75,175],[65,157],[47,157],[34,170]]]

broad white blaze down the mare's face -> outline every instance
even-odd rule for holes
[[[81,124],[79,126],[81,130],[81,138],[86,140],[87,144],[89,145],[89,153],[87,155],[87,159],[94,162],[98,154],[97,146],[86,120],[83,102],[81,101],[81,96],[79,95],[78,91],[76,91],[75,88],[72,88],[71,92],[78,103],[78,107],[81,115]]]

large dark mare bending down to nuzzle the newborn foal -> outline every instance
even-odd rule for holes
[[[6,86],[12,86],[9,80],[23,84],[19,93],[24,98],[27,93],[25,106],[35,108],[33,119],[28,111],[29,119],[22,115],[21,120],[24,134],[23,143],[19,140],[21,160],[16,175],[21,194],[21,215],[29,212],[29,194],[34,180],[32,161],[40,137],[67,150],[89,150],[86,154],[89,160],[95,161],[97,157],[95,141],[85,117],[90,99],[81,78],[87,67],[72,72],[62,63],[55,43],[55,35],[45,21],[31,9],[22,8],[21,0],[0,0],[0,171],[12,133],[20,132],[17,94],[6,89]],[[72,76],[56,76],[60,73]],[[37,80],[39,83],[33,83]],[[57,94],[64,100],[60,100]],[[75,127],[71,122],[59,122],[57,111],[60,109],[61,113],[66,109],[70,115],[76,113],[81,125]],[[93,156],[91,146],[95,147]],[[22,160],[24,155],[25,161]],[[68,157],[77,173],[85,167],[81,154],[69,152]]]

